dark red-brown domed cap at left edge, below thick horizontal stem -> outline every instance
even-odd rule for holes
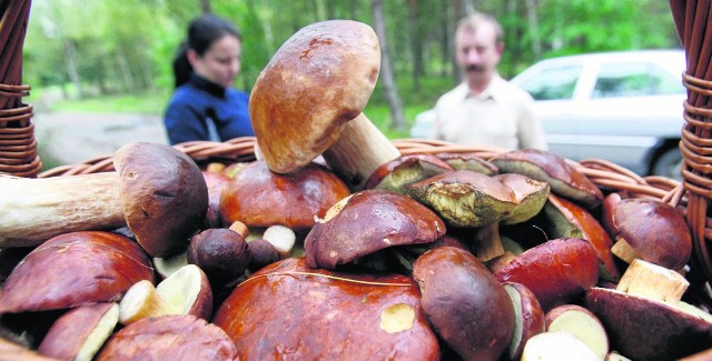
[[[72,232],[36,248],[0,290],[0,313],[61,310],[121,299],[140,280],[155,281],[150,259],[128,238]]]

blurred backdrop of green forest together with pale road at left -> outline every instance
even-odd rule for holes
[[[393,83],[382,72],[365,113],[389,138],[404,138],[416,114],[459,81],[453,32],[474,10],[504,28],[506,79],[560,56],[680,48],[669,3],[659,0],[34,0],[23,49],[23,83],[32,86],[26,102],[36,109],[46,168],[102,156],[111,141],[166,142],[157,124],[172,91],[170,64],[196,16],[212,12],[238,26],[236,88],[247,92],[301,27],[355,19],[377,28],[383,17]],[[96,147],[72,153],[89,146],[69,142],[82,131]]]

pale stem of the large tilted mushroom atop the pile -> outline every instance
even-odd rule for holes
[[[400,157],[398,149],[360,113],[344,124],[342,134],[324,152],[327,164],[354,190],[360,190],[383,163]]]

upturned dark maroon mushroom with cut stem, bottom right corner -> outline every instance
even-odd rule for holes
[[[636,259],[615,290],[590,289],[585,307],[625,357],[676,360],[712,348],[712,315],[680,301],[686,287],[675,271]]]

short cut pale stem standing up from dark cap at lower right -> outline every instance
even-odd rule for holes
[[[671,304],[676,304],[690,282],[680,273],[641,259],[631,262],[616,290]]]

